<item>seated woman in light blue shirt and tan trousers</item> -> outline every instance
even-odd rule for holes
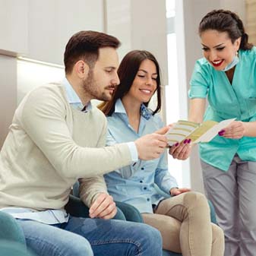
[[[163,127],[161,108],[160,67],[147,51],[128,52],[119,66],[120,84],[110,102],[100,109],[107,115],[107,144],[135,141]],[[147,105],[157,93],[154,111]],[[169,174],[166,155],[105,175],[109,194],[115,201],[137,207],[144,222],[159,229],[163,248],[182,252],[183,256],[221,256],[224,236],[220,227],[210,223],[210,211],[203,194],[178,188]],[[160,190],[169,194],[163,198]]]

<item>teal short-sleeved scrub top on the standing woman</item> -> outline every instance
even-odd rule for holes
[[[189,98],[207,97],[204,121],[256,121],[256,47],[239,50],[232,84],[226,73],[216,71],[206,58],[196,62],[190,84]],[[242,160],[256,161],[256,137],[228,139],[217,135],[209,143],[200,144],[201,160],[223,171],[229,169],[235,153]]]

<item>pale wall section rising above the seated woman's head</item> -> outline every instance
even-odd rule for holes
[[[120,58],[131,49],[146,49],[156,55],[168,83],[166,2],[164,0],[106,1],[107,33],[122,42]]]

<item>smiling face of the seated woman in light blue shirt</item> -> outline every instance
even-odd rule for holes
[[[147,103],[156,91],[156,65],[149,59],[141,62],[127,95],[140,103]]]

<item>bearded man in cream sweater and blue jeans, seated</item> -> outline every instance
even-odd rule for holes
[[[0,155],[0,208],[19,221],[27,246],[38,255],[162,254],[156,229],[103,220],[115,215],[115,203],[93,186],[104,182],[104,173],[138,158],[157,158],[166,147],[162,134],[103,147],[106,118],[90,100],[110,100],[119,84],[118,47],[119,40],[105,33],[74,34],[65,49],[64,81],[31,91],[14,114]],[[91,216],[101,219],[65,212],[71,186],[80,178],[88,179]]]

